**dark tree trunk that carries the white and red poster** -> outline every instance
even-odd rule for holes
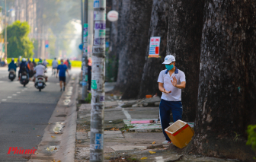
[[[169,2],[165,0],[153,0],[152,14],[149,28],[149,37],[161,37],[160,52],[161,58],[148,58],[149,56],[149,40],[146,48],[146,62],[144,65],[142,81],[139,87],[139,98],[143,98],[146,94],[158,94],[158,75],[165,66],[162,62],[166,56],[167,32],[168,32],[168,8]]]

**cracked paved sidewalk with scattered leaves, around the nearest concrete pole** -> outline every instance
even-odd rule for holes
[[[212,157],[178,154],[180,148],[162,145],[165,136],[161,125],[158,129],[134,129],[125,122],[129,119],[158,119],[158,106],[138,106],[142,100],[121,101],[120,97],[106,95],[104,110],[104,161],[234,161]],[[155,99],[154,99],[155,102]],[[123,108],[124,103],[132,103]],[[134,104],[137,104],[134,106]],[[128,104],[126,104],[128,105]],[[75,162],[89,161],[91,104],[78,105]],[[144,160],[143,160],[144,159]]]

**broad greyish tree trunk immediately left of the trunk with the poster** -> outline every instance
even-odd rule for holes
[[[124,4],[124,2],[128,4]],[[124,43],[120,51],[117,84],[125,86],[123,99],[135,98],[139,93],[139,84],[149,42],[149,24],[152,11],[152,0],[123,1],[120,25]],[[124,21],[126,21],[124,23]]]

